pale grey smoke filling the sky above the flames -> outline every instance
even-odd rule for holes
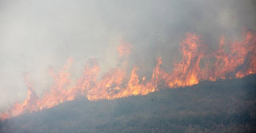
[[[101,72],[119,64],[120,40],[133,48],[130,67],[152,70],[162,57],[171,70],[185,33],[202,35],[214,49],[220,35],[239,38],[243,27],[256,30],[254,0],[1,0],[0,110],[27,96],[28,73],[39,97],[49,90],[49,68],[61,69],[69,57],[73,79],[89,58]],[[75,81],[75,80],[74,80]]]

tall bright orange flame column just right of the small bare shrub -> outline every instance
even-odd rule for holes
[[[204,53],[200,52],[199,47],[202,44],[199,37],[195,34],[187,33],[186,40],[180,43],[182,51],[182,60],[175,64],[173,73],[167,79],[169,87],[191,86],[202,80],[203,70],[199,63]]]

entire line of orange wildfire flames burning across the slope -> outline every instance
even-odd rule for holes
[[[229,50],[226,51],[225,47]],[[119,56],[128,56],[130,48],[130,44],[122,41],[117,48]],[[192,86],[202,80],[242,78],[256,73],[256,33],[246,31],[243,33],[243,40],[234,42],[227,42],[222,36],[216,52],[209,51],[201,36],[186,33],[185,40],[180,42],[180,51],[182,60],[174,64],[171,73],[164,71],[162,58],[157,58],[151,78],[140,77],[137,74],[139,68],[134,66],[130,78],[126,79],[129,73],[126,73],[125,68],[118,66],[110,69],[98,80],[101,70],[99,63],[96,59],[90,59],[85,65],[82,77],[73,87],[69,86],[71,79],[68,68],[72,64],[70,58],[59,72],[50,70],[55,82],[42,98],[37,97],[33,84],[26,74],[26,100],[23,103],[15,103],[7,112],[1,113],[1,120],[50,108],[79,96],[86,96],[88,100],[112,100],[131,95],[146,95],[164,87]]]

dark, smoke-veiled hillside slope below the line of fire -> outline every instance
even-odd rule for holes
[[[64,102],[0,123],[1,133],[255,133],[256,75],[117,100]]]

